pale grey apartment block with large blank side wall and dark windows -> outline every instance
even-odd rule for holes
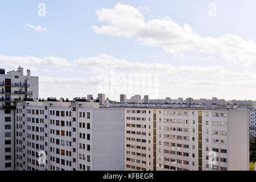
[[[84,98],[24,101],[16,106],[15,170],[124,170],[124,118],[122,108]]]

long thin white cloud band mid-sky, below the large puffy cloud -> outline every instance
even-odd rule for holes
[[[75,61],[75,65],[92,68],[92,71],[97,72],[109,72],[110,69],[116,69],[123,72],[159,72],[159,73],[194,73],[194,74],[208,74],[221,72],[223,68],[221,66],[214,67],[196,67],[196,66],[177,66],[174,67],[171,64],[160,63],[132,63],[124,59],[117,59],[113,56],[101,54],[94,57],[80,58]]]

